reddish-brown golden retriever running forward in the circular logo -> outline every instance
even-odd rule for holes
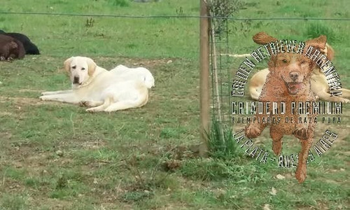
[[[255,43],[270,43],[278,41],[276,38],[260,32],[253,37]],[[313,46],[318,50],[325,49],[326,37],[320,36],[305,42],[305,48]],[[298,118],[300,114],[291,111],[292,102],[315,102],[316,96],[311,91],[311,72],[316,63],[308,57],[293,52],[280,52],[271,56],[269,60],[269,74],[266,83],[262,87],[259,97],[260,102],[286,103],[286,113],[256,113],[256,118],[281,118],[279,123],[270,121],[260,122],[260,120],[251,121],[245,128],[245,135],[249,139],[260,136],[262,130],[269,125],[269,134],[272,138],[272,150],[276,155],[281,153],[282,138],[284,135],[294,135],[300,139],[302,149],[299,153],[297,162],[297,171],[295,177],[302,183],[307,176],[307,157],[311,148],[314,127],[314,121],[309,123],[300,123]],[[307,118],[315,118],[316,113],[309,113]],[[285,119],[294,118],[295,122],[286,122]],[[306,127],[304,125],[307,125]]]

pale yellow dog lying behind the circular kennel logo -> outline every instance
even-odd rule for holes
[[[266,43],[260,43],[260,44],[266,44]],[[334,57],[334,50],[330,45],[328,45],[328,43],[325,45],[325,49],[321,50],[321,52],[324,55],[327,55],[329,60],[332,60]],[[262,69],[251,77],[248,90],[252,99],[258,100],[262,90],[262,85],[264,85],[268,73],[269,73],[269,69]],[[342,95],[332,96],[332,97],[330,96],[327,78],[325,77],[324,73],[319,68],[319,66],[316,66],[314,71],[312,71],[311,90],[316,94],[317,98],[325,101],[345,102],[345,103],[350,102],[349,99],[346,99],[350,97],[350,90],[347,90],[345,88],[341,89]]]

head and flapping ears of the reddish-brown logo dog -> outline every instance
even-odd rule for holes
[[[255,34],[253,37],[255,43],[265,45],[270,42],[278,41],[277,38],[269,36],[264,32]],[[320,36],[305,42],[306,50],[310,45],[315,49],[325,49],[326,37]],[[316,63],[303,54],[293,52],[279,52],[272,55],[269,60],[270,76],[283,80],[288,94],[296,95],[299,90],[305,90],[304,87],[310,85],[311,72]]]

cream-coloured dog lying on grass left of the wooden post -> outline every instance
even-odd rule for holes
[[[42,92],[41,100],[88,106],[89,112],[111,112],[144,106],[148,88],[154,86],[152,73],[142,67],[120,65],[107,71],[89,57],[71,57],[64,62],[64,69],[72,89]]]

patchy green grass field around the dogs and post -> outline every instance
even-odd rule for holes
[[[245,1],[235,17],[349,19],[347,3]],[[240,145],[225,157],[200,158],[190,150],[200,143],[200,20],[184,16],[199,10],[200,1],[194,0],[1,2],[0,29],[27,34],[41,55],[0,63],[0,209],[349,209],[347,104],[341,124],[318,125],[315,139],[327,129],[339,137],[308,165],[302,184],[294,178],[295,168],[260,164]],[[349,21],[230,20],[228,51],[252,52],[258,45],[251,37],[258,31],[298,41],[327,35],[342,84],[350,88]],[[92,57],[106,69],[145,66],[155,76],[150,101],[111,114],[41,102],[41,92],[70,87],[62,68],[73,55]],[[232,73],[240,63],[230,60]],[[267,132],[259,141],[272,151]],[[286,138],[283,153],[299,149],[296,139]]]

